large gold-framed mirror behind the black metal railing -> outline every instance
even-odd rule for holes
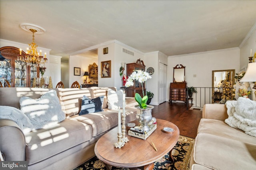
[[[213,70],[212,71],[212,96],[213,103],[218,103],[222,100],[222,83],[221,80],[226,80],[230,86],[234,84],[235,70]]]

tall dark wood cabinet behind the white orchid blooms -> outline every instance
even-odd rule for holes
[[[144,63],[129,63],[126,64],[126,75],[130,76],[134,70],[142,70],[145,71]],[[142,86],[144,89],[144,95],[146,94],[145,83],[141,84],[139,81],[134,80],[134,85],[126,88],[126,96],[127,97],[134,97],[136,93],[142,95]]]

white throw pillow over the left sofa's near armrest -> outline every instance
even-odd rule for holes
[[[10,119],[15,121],[24,133],[31,131],[33,128],[28,116],[15,107],[0,106],[0,119]]]

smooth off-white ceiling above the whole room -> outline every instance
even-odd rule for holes
[[[20,23],[46,29],[39,47],[62,56],[117,40],[167,56],[238,47],[256,23],[256,0],[0,0],[0,39],[31,43]]]

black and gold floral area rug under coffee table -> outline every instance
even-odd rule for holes
[[[190,153],[193,148],[194,139],[180,135],[178,142],[172,150],[174,162],[169,161],[169,153],[154,162],[154,170],[189,170]],[[74,170],[107,170],[104,163],[96,156]],[[129,168],[117,168],[112,166],[111,170],[129,170]]]

